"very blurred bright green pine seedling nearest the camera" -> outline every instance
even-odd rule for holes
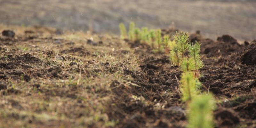
[[[212,94],[196,96],[188,105],[187,128],[213,128],[215,101]]]

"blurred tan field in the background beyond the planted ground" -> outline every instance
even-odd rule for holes
[[[119,33],[118,24],[175,27],[209,38],[256,38],[254,0],[0,0],[0,23]]]

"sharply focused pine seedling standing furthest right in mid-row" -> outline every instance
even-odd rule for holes
[[[188,57],[193,59],[196,70],[204,67],[204,63],[201,60],[199,42],[196,41],[194,45],[190,44],[188,46]]]

